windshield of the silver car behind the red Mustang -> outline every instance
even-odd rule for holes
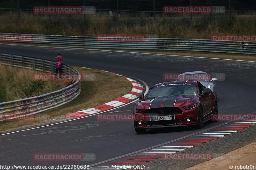
[[[186,81],[186,80],[193,80],[193,81],[199,81],[199,82],[211,81],[210,75],[206,73],[179,75],[179,77],[177,78],[177,81]]]

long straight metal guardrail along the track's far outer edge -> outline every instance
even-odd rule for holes
[[[1,42],[77,48],[158,49],[256,54],[255,42],[145,38],[142,41],[99,41],[97,37],[0,33]]]

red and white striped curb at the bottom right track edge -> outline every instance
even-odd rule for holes
[[[92,170],[110,170],[110,169],[113,169],[113,166],[117,167],[117,165],[120,168],[115,168],[115,169],[122,169],[121,166],[143,165],[143,164],[146,164],[148,161],[156,160],[157,158],[160,158],[160,157],[165,158],[166,156],[168,156],[168,154],[184,151],[187,148],[192,148],[194,146],[198,146],[198,145],[210,142],[211,140],[218,139],[219,137],[230,135],[231,133],[237,132],[238,130],[243,130],[244,128],[253,126],[256,123],[256,115],[252,115],[252,116],[254,116],[255,119],[251,118],[247,120],[238,120],[235,122],[229,122],[225,125],[220,125],[213,129],[209,129],[205,132],[184,137],[177,141],[173,141],[158,147],[154,147],[154,148],[144,150],[135,154],[131,154],[129,156],[113,159],[111,161],[94,166],[91,169]],[[222,155],[222,153],[212,153],[212,155],[220,156]],[[148,168],[150,167],[146,167],[146,169]]]

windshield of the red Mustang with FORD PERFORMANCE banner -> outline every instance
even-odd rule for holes
[[[197,88],[195,84],[170,84],[153,87],[148,93],[148,99],[164,96],[196,96]]]

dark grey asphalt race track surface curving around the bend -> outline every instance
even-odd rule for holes
[[[149,88],[163,82],[164,73],[205,71],[224,73],[217,81],[219,113],[249,114],[255,111],[256,63],[209,58],[139,54],[91,49],[31,47],[0,44],[0,52],[54,60],[57,52],[64,63],[107,70],[145,81]],[[13,68],[15,69],[15,68]],[[132,113],[135,103],[109,111]],[[108,112],[107,112],[108,113]],[[223,122],[206,122],[203,129]],[[202,129],[200,129],[202,130]],[[0,160],[4,165],[74,165],[77,161],[35,161],[34,153],[95,153],[95,161],[115,158],[195,133],[195,128],[151,129],[136,134],[132,121],[97,121],[90,116],[75,121],[0,136]],[[79,164],[81,164],[79,162]]]

